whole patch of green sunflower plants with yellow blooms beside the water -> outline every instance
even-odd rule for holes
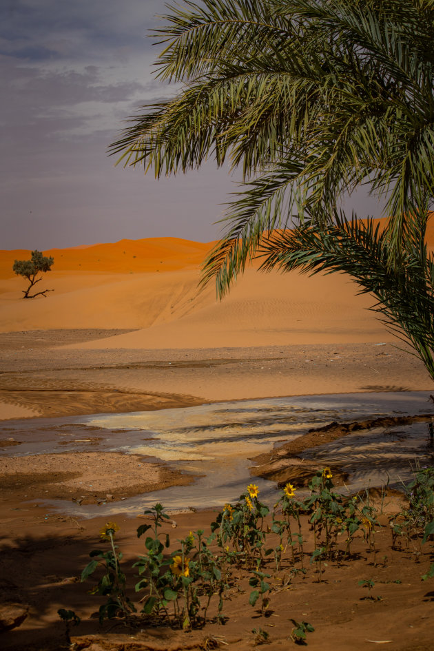
[[[421,513],[431,513],[431,477],[433,468],[426,468],[421,477],[409,484],[413,499],[410,510],[417,524],[415,535],[420,544],[434,535],[434,520],[427,521],[421,529]],[[246,590],[243,580],[249,577],[251,606],[260,599],[260,611],[268,615],[271,592],[288,590],[294,577],[309,575],[309,567],[303,567],[304,530],[311,527],[313,549],[311,566],[315,566],[318,581],[327,561],[349,557],[350,543],[363,537],[375,555],[373,529],[378,526],[376,510],[369,500],[369,491],[364,497],[346,497],[335,492],[330,468],[318,471],[309,482],[309,494],[297,499],[296,490],[289,483],[276,502],[271,518],[269,509],[258,499],[258,486],[249,484],[247,490],[234,505],[225,504],[211,525],[212,532],[205,535],[203,529],[190,531],[178,541],[178,548],[172,549],[169,534],[164,527],[169,520],[161,504],[145,511],[150,524],[138,527],[138,537],[144,537],[145,552],[138,558],[134,568],[138,569],[136,592],[141,593],[141,612],[127,597],[126,578],[121,570],[122,554],[114,544],[118,527],[107,522],[101,531],[101,538],[110,544],[109,550],[94,550],[91,561],[82,572],[82,580],[103,568],[99,582],[91,594],[107,598],[100,607],[100,621],[105,617],[120,617],[129,624],[143,623],[169,625],[172,628],[191,630],[200,628],[209,621],[214,608],[213,621],[224,622],[223,604],[236,592],[243,595]],[[398,514],[402,517],[402,514]],[[271,522],[271,526],[270,526]],[[395,526],[395,521],[391,521]],[[423,537],[422,537],[423,533]],[[395,539],[393,539],[394,541]],[[307,546],[307,544],[306,544]],[[384,567],[388,561],[382,559]],[[374,559],[375,564],[375,559]],[[267,572],[273,567],[273,577]],[[247,575],[247,576],[246,576]],[[434,564],[422,579],[434,576]],[[395,583],[400,583],[396,579]],[[364,599],[380,601],[373,597],[373,579],[360,579],[359,586],[367,588]],[[212,606],[212,608],[211,608]],[[67,622],[77,623],[73,611],[63,610]],[[313,630],[306,622],[293,620],[295,628],[291,639],[305,643],[306,633]],[[256,630],[260,635],[260,629]],[[263,636],[262,636],[263,638]],[[257,638],[257,643],[265,639]],[[223,642],[222,642],[223,643]],[[213,643],[210,642],[210,645]],[[209,647],[211,648],[211,646]]]

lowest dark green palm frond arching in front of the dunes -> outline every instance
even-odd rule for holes
[[[304,225],[271,234],[261,242],[261,269],[301,273],[347,273],[377,300],[371,307],[399,338],[408,342],[434,379],[433,258],[424,242],[426,215],[408,235],[400,265],[389,265],[390,240],[373,220],[347,221],[335,214],[335,225],[320,229]]]

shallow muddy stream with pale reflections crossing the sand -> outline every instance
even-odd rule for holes
[[[360,393],[342,395],[296,396],[244,400],[187,407],[121,414],[99,414],[61,419],[35,419],[3,422],[0,437],[21,441],[14,448],[0,449],[0,455],[29,455],[68,451],[123,451],[163,459],[185,473],[203,475],[192,486],[167,488],[122,502],[122,510],[136,514],[146,504],[163,502],[169,508],[221,506],[234,501],[251,480],[249,457],[270,451],[280,442],[289,441],[311,428],[333,421],[365,420],[382,415],[430,413],[433,404],[428,392]],[[351,482],[373,479],[397,444],[415,456],[415,443],[421,440],[421,426],[405,430],[405,442],[395,439],[385,444],[382,432],[349,435],[322,448],[309,451],[309,456],[327,459],[327,463],[344,462],[351,466]],[[400,428],[403,429],[402,427]],[[426,438],[426,425],[424,426]],[[375,438],[377,437],[377,438]],[[386,437],[387,441],[387,437]],[[369,452],[366,451],[369,442]],[[386,447],[384,447],[386,445]],[[389,447],[387,447],[389,446]],[[390,448],[390,449],[389,449]],[[389,452],[386,453],[386,450]],[[305,457],[308,455],[305,454]],[[395,454],[396,457],[396,454]],[[387,462],[384,462],[387,466]],[[383,463],[383,466],[384,466]],[[389,459],[391,473],[402,472],[402,463]],[[399,466],[399,467],[398,467]],[[362,470],[362,468],[364,468]],[[373,474],[374,473],[374,474]],[[378,474],[378,473],[377,473]],[[255,479],[261,497],[273,501],[276,485]],[[71,502],[53,502],[56,507],[82,517],[109,514],[119,510],[119,503],[103,506],[77,506]]]

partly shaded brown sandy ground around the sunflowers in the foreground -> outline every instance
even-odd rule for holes
[[[174,541],[198,527],[209,531],[215,515],[206,512],[174,515],[177,527],[170,525],[165,531]],[[21,510],[21,518],[21,524],[17,519],[4,521],[6,526],[13,526],[14,536],[8,536],[2,547],[1,588],[3,594],[12,594],[14,601],[21,599],[28,603],[30,614],[19,628],[2,634],[4,649],[68,648],[63,626],[54,617],[59,606],[72,608],[81,615],[82,623],[72,629],[72,639],[77,644],[75,648],[89,651],[287,650],[296,648],[289,640],[291,619],[309,621],[315,627],[307,639],[308,648],[313,651],[364,651],[377,648],[378,643],[394,651],[432,649],[433,590],[430,583],[420,580],[429,564],[429,553],[420,556],[417,550],[404,547],[391,550],[386,528],[379,528],[376,535],[376,565],[362,540],[355,546],[349,563],[340,567],[329,564],[321,583],[307,561],[307,575],[298,575],[286,589],[278,588],[271,594],[271,612],[267,617],[247,603],[248,577],[238,573],[238,582],[228,594],[230,600],[225,599],[225,625],[209,623],[203,630],[185,633],[149,626],[128,629],[116,626],[116,622],[99,628],[97,620],[92,619],[101,598],[88,595],[86,590],[92,581],[79,583],[78,577],[89,560],[90,550],[101,546],[98,539],[103,520],[78,522],[60,515],[46,515],[40,508]],[[117,542],[125,553],[123,565],[129,583],[134,584],[136,572],[131,564],[143,553],[143,540],[136,537],[136,528],[143,524],[143,519],[125,519],[119,514],[115,521],[121,527]],[[311,545],[309,539],[309,550]],[[373,580],[373,594],[381,599],[366,600],[366,589],[358,585],[360,579]],[[134,592],[131,595],[134,597]],[[265,630],[269,644],[256,643],[254,629]],[[211,646],[213,639],[215,645]]]

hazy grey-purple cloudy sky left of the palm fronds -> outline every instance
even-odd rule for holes
[[[129,116],[176,92],[155,79],[149,30],[165,12],[163,0],[1,0],[0,249],[218,238],[228,168],[156,180],[107,156]]]

